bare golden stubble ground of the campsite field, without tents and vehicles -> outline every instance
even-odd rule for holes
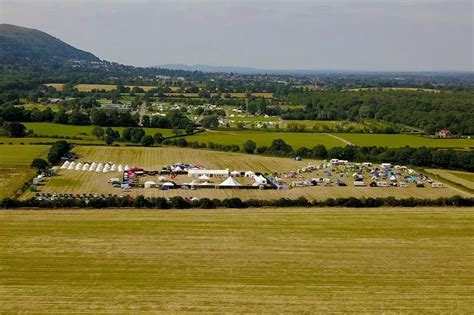
[[[244,155],[240,153],[215,152],[207,150],[185,149],[175,147],[163,148],[141,148],[141,147],[87,147],[80,146],[74,149],[82,162],[113,162],[116,164],[128,164],[130,167],[138,166],[145,169],[161,169],[163,166],[183,162],[195,165],[204,165],[207,168],[217,168],[239,171],[260,171],[273,173],[284,171],[296,171],[314,161],[294,161],[290,158],[263,157],[258,155]],[[307,173],[309,178],[312,174]],[[107,184],[111,177],[120,177],[115,173],[81,172],[73,170],[60,170],[58,176],[48,179],[46,185],[40,187],[40,191],[46,193],[98,193],[98,194],[121,194],[121,189],[113,188]],[[158,182],[158,176],[148,176],[143,180]],[[224,179],[215,179],[220,183]],[[238,181],[239,178],[237,178]],[[178,176],[178,183],[190,182],[187,176]],[[243,183],[243,182],[242,182]],[[291,181],[289,182],[291,183]],[[348,187],[304,187],[290,190],[237,190],[237,189],[198,189],[198,190],[169,190],[139,189],[134,188],[127,194],[145,196],[183,196],[196,198],[230,198],[241,199],[278,199],[298,198],[304,196],[308,199],[327,199],[337,197],[389,197],[396,198],[439,198],[453,195],[470,196],[469,193],[457,188],[447,187],[433,189],[431,187],[416,188],[406,187],[353,187],[352,181],[347,181]],[[23,197],[31,197],[26,193]]]

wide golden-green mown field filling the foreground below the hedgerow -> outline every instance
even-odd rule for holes
[[[455,313],[471,209],[0,212],[0,313]]]

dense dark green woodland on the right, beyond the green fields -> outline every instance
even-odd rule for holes
[[[291,93],[291,104],[302,109],[281,113],[287,120],[384,120],[434,133],[474,134],[474,93],[408,91],[318,91]]]

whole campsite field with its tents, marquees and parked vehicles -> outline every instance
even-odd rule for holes
[[[73,149],[56,175],[22,198],[59,194],[242,199],[469,196],[405,166],[348,161],[298,161],[188,148]],[[421,183],[421,186],[418,186]],[[376,186],[376,187],[371,187]]]

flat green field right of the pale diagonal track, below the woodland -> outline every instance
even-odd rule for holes
[[[334,135],[358,146],[387,146],[389,148],[399,148],[408,145],[410,147],[425,146],[431,148],[459,149],[474,147],[474,139],[431,139],[404,134],[335,133]]]

